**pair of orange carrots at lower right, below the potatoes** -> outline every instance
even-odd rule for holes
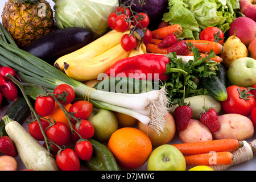
[[[172,144],[184,155],[187,166],[216,166],[233,163],[232,152],[243,146],[237,139]]]

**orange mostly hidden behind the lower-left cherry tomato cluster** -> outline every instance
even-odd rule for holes
[[[69,107],[71,107],[71,106],[72,106],[72,104],[67,104],[64,107],[67,110],[69,110]],[[64,123],[70,129],[70,125],[68,123],[67,117],[65,116],[63,110],[60,108],[60,106],[56,102],[55,102],[55,108],[54,108],[52,114],[48,115],[46,118],[50,119],[51,122],[53,122],[52,119],[55,119],[56,122]],[[75,125],[72,124],[72,126],[75,126]]]

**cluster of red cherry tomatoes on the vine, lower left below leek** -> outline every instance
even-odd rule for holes
[[[55,98],[53,98],[55,97]],[[87,121],[92,114],[93,104],[88,101],[76,101],[73,88],[67,84],[60,84],[53,90],[53,95],[39,96],[35,101],[36,113],[40,116],[40,122],[37,120],[28,125],[28,131],[36,140],[45,141],[43,146],[49,147],[53,156],[56,156],[56,162],[63,171],[78,171],[81,160],[90,160],[93,152],[92,144],[88,139],[94,135],[92,123]],[[55,104],[59,101],[61,105],[71,104],[67,111],[70,121],[75,124],[69,128],[63,122],[50,122],[44,118],[52,114]],[[40,129],[40,125],[43,129]],[[47,140],[44,138],[46,136]],[[47,143],[46,143],[47,142]],[[63,148],[69,142],[75,144],[75,150],[72,148]]]

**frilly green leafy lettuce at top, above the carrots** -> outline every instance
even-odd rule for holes
[[[165,22],[180,24],[181,38],[199,39],[199,33],[206,27],[214,26],[226,32],[240,9],[239,0],[169,0]]]

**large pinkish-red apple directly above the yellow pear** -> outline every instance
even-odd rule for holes
[[[253,19],[245,16],[234,19],[230,24],[228,36],[232,36],[234,34],[234,28],[237,28],[237,38],[239,38],[246,47],[255,40],[256,22]]]

